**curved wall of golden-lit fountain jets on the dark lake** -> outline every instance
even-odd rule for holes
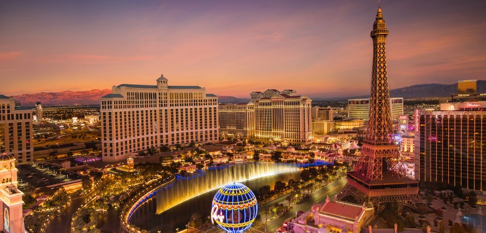
[[[177,178],[156,194],[156,213],[160,214],[184,201],[220,188],[227,183],[244,182],[265,176],[298,171],[293,165],[238,164],[216,167],[191,177]]]

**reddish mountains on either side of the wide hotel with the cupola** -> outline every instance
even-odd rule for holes
[[[35,106],[37,101],[42,105],[71,105],[71,104],[99,104],[100,98],[111,93],[111,89],[93,89],[90,91],[62,91],[62,92],[41,92],[35,94],[22,94],[14,96],[20,101],[23,107]],[[250,99],[240,99],[232,96],[218,96],[220,103],[249,102]]]

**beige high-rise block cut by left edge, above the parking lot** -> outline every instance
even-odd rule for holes
[[[0,95],[0,154],[14,156],[18,164],[32,163],[32,125],[32,111],[16,110],[13,98]]]

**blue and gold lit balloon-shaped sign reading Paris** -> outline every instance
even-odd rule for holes
[[[257,198],[243,183],[226,184],[212,200],[211,221],[227,233],[243,233],[257,214]]]

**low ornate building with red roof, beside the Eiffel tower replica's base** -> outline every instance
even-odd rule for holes
[[[315,204],[312,209],[292,220],[288,232],[295,233],[359,233],[372,220],[373,207],[344,201],[331,201],[327,197],[323,204]]]

